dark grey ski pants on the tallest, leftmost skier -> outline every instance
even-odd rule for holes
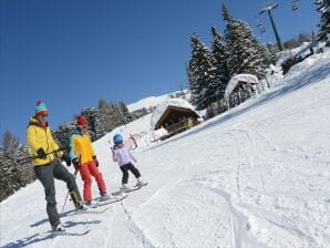
[[[60,223],[60,216],[56,208],[54,178],[66,183],[69,192],[76,195],[78,199],[73,199],[76,202],[79,199],[81,200],[81,195],[78,190],[75,178],[59,159],[54,159],[47,165],[34,166],[34,174],[44,188],[47,214],[51,226],[54,226]]]

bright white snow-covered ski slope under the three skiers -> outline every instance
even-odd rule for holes
[[[43,189],[29,185],[0,205],[1,247],[330,247],[329,72],[328,50],[293,66],[282,86],[135,151],[148,186],[104,214],[62,217],[70,231],[91,228],[85,236],[47,236]],[[94,143],[109,192],[121,182],[112,135]],[[65,194],[56,182],[59,209]]]

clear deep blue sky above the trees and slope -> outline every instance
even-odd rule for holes
[[[70,122],[100,99],[126,104],[186,85],[190,35],[210,45],[210,27],[223,32],[220,0],[1,0],[1,137],[6,130],[25,142],[25,127],[42,100],[52,128]],[[256,28],[269,1],[227,0],[230,14]],[[277,1],[281,40],[317,31],[312,1]]]

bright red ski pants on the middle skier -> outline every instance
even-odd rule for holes
[[[105,186],[102,173],[100,173],[99,168],[96,167],[93,161],[82,164],[80,166],[80,175],[82,180],[84,182],[84,192],[83,192],[84,202],[92,199],[92,190],[91,190],[92,177],[91,176],[95,177],[100,193],[106,192],[106,186]]]

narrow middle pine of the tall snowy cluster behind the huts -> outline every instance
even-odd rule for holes
[[[223,37],[220,35],[220,33],[217,32],[215,27],[212,27],[212,34],[213,34],[212,52],[216,60],[215,66],[217,68],[217,76],[220,80],[219,89],[217,90],[218,96],[219,96],[218,99],[223,99],[226,86],[230,79],[229,69],[227,65],[229,53],[227,50],[227,45],[223,40]]]

